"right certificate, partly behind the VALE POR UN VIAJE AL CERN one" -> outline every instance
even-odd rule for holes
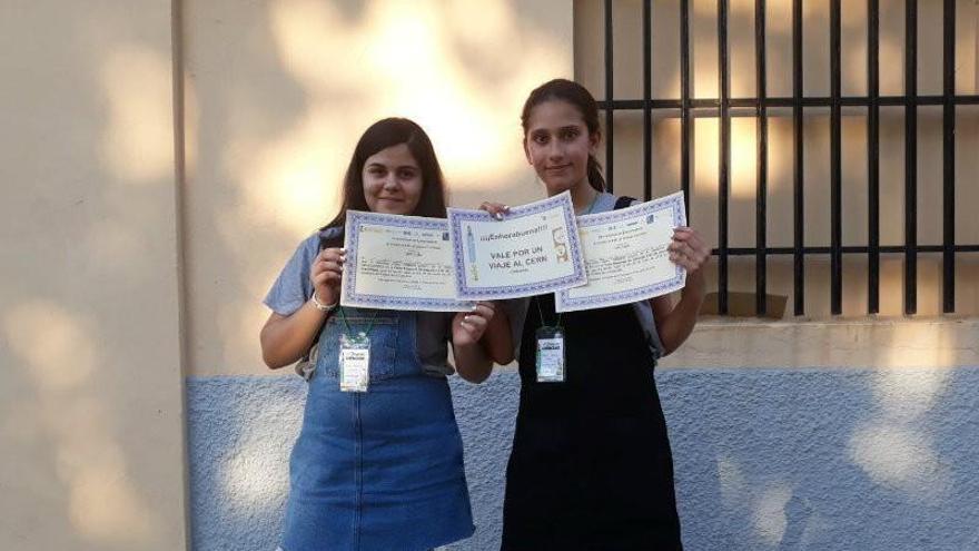
[[[577,219],[589,283],[560,291],[557,312],[634,303],[683,287],[686,270],[670,260],[673,228],[686,225],[683,194]]]

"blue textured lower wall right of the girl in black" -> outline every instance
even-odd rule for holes
[[[689,549],[979,541],[979,370],[669,371]]]

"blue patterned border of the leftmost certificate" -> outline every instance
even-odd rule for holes
[[[357,293],[357,255],[350,255],[356,250],[359,243],[360,227],[365,224],[384,225],[396,228],[434,229],[448,234],[448,220],[445,218],[425,218],[422,216],[389,215],[379,213],[364,213],[347,210],[347,220],[344,235],[344,248],[348,257],[344,266],[344,292],[340,297],[354,299],[360,307],[378,309],[418,309],[432,312],[465,312],[473,307],[472,302],[449,298],[408,298],[393,297],[387,295],[369,295]]]

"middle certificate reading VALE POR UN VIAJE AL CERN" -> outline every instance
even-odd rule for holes
[[[448,224],[461,299],[532,296],[587,281],[567,191],[514,207],[503,220],[449,208]]]

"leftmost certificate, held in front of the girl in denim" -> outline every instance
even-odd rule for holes
[[[452,243],[444,218],[347,210],[344,306],[463,312],[456,299]]]

